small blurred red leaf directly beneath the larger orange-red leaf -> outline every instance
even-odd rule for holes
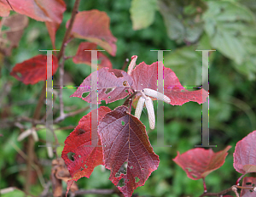
[[[73,57],[73,62],[75,64],[86,64],[91,65],[91,53],[90,51],[84,51],[85,50],[96,50],[97,45],[95,43],[91,42],[81,42],[79,44],[79,49],[76,53],[76,55]],[[101,52],[98,53],[98,60],[100,61],[99,69],[102,67],[108,67],[112,68],[111,61],[108,59],[106,55],[104,55]]]

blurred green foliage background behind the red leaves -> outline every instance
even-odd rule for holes
[[[61,41],[66,31],[65,24],[70,19],[74,1],[65,1],[67,11],[59,31],[56,34],[56,48],[61,48]],[[109,59],[114,69],[122,69],[125,59],[137,55],[137,64],[145,62],[150,65],[157,61],[157,53],[152,49],[172,50],[165,52],[165,66],[171,68],[182,85],[201,85],[201,52],[195,49],[216,49],[209,57],[210,84],[210,144],[217,145],[213,151],[232,145],[224,166],[212,172],[206,178],[210,192],[218,192],[236,183],[241,175],[233,168],[236,143],[249,132],[256,130],[256,5],[253,0],[245,1],[178,1],[178,0],[89,0],[81,1],[79,11],[99,9],[110,17],[110,29],[117,37],[117,53]],[[20,47],[15,48],[10,57],[0,57],[0,188],[24,187],[26,161],[15,149],[15,145],[26,151],[27,138],[18,142],[21,131],[15,125],[7,126],[4,121],[12,121],[19,116],[32,117],[38,95],[44,82],[24,85],[9,72],[26,59],[39,54],[39,49],[51,49],[49,34],[44,23],[30,19]],[[74,39],[67,46],[67,55],[73,55],[82,40]],[[126,68],[127,69],[127,68]],[[126,70],[125,69],[125,70]],[[71,59],[65,64],[65,85],[79,86],[90,75],[89,65],[75,65]],[[57,83],[59,73],[54,76]],[[207,79],[204,79],[207,82]],[[9,88],[8,88],[9,86]],[[55,89],[58,92],[58,89]],[[75,89],[64,89],[65,111],[84,108],[88,103],[80,98],[69,98]],[[108,104],[112,110],[123,104],[124,100]],[[102,102],[102,104],[105,104]],[[154,109],[157,104],[154,103]],[[191,180],[172,159],[177,151],[183,153],[201,144],[201,105],[193,102],[183,106],[165,104],[165,143],[170,148],[154,148],[160,156],[160,166],[152,173],[143,187],[135,190],[139,196],[175,197],[199,196],[203,193],[202,180]],[[56,135],[61,143],[57,149],[61,155],[64,140],[73,129],[61,130],[60,127],[76,127],[80,118],[89,113],[68,117],[56,125]],[[42,110],[42,116],[45,108]],[[54,117],[59,115],[59,99],[55,99]],[[132,111],[134,114],[134,110]],[[148,129],[147,112],[141,121]],[[31,123],[23,122],[25,127]],[[156,129],[148,130],[151,144],[156,144]],[[44,130],[38,129],[38,136],[45,140]],[[15,144],[15,145],[14,145]],[[49,180],[51,159],[44,148],[35,145],[34,151],[38,165],[42,167],[44,179]],[[36,175],[35,175],[36,176]],[[80,189],[112,189],[108,180],[109,171],[102,171],[97,166],[90,179],[84,177],[78,181]],[[63,189],[65,188],[65,184]],[[36,177],[31,193],[39,196],[43,191]],[[3,194],[4,197],[24,196],[20,191]],[[101,195],[88,194],[95,197]],[[105,195],[111,196],[111,195]],[[117,195],[113,195],[117,196]]]

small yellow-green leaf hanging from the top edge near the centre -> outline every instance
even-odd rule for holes
[[[131,21],[133,30],[141,30],[154,22],[154,13],[157,8],[157,0],[132,0]]]

